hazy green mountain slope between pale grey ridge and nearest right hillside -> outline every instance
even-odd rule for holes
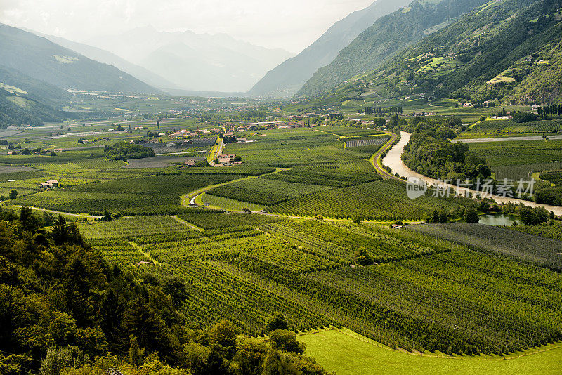
[[[362,32],[338,57],[320,68],[297,95],[328,91],[357,74],[379,67],[396,52],[453,22],[485,0],[415,0]]]

